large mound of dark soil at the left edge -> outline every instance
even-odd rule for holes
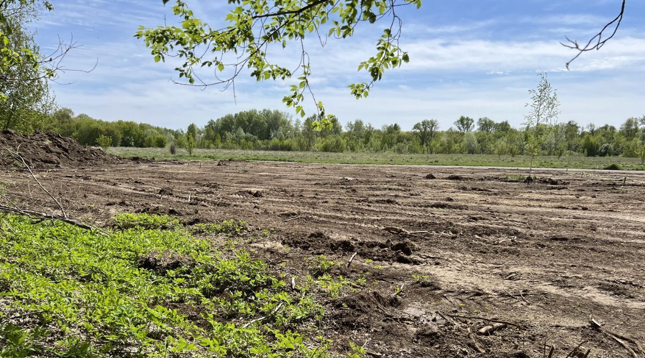
[[[0,132],[0,165],[22,167],[20,160],[8,150],[17,152],[32,168],[74,168],[101,166],[119,161],[114,155],[79,144],[73,138],[55,132],[35,132],[23,135],[14,130]]]

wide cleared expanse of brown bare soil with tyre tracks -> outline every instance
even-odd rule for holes
[[[337,353],[353,341],[373,357],[537,358],[551,345],[552,357],[632,357],[589,319],[645,343],[645,174],[541,170],[528,184],[510,180],[520,174],[131,161],[39,177],[70,212],[101,224],[149,212],[273,228],[250,250],[289,281],[316,255],[344,263],[333,273],[367,284],[325,299]],[[5,171],[0,180],[15,200],[35,204],[26,175]],[[480,334],[493,322],[457,316],[510,324]]]

